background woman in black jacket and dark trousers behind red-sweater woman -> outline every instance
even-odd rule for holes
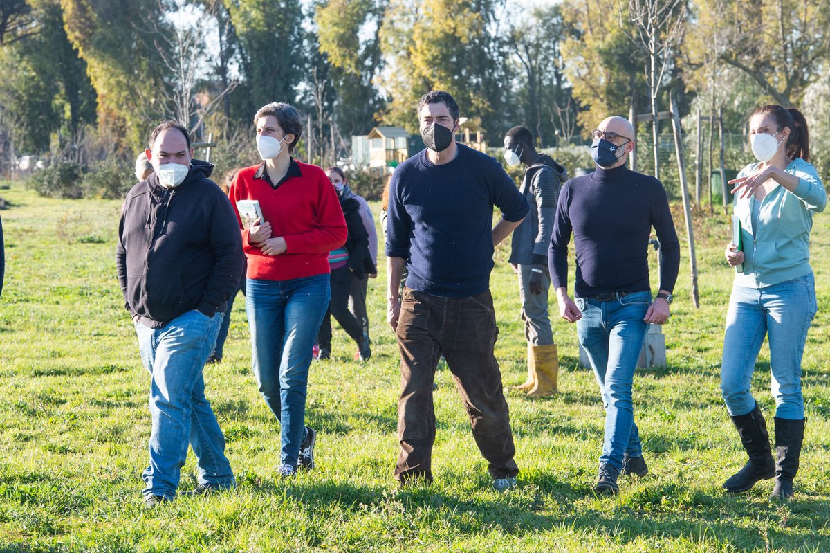
[[[329,254],[331,301],[317,335],[317,343],[320,346],[317,350],[317,359],[326,360],[331,357],[331,316],[334,316],[346,334],[357,343],[359,359],[368,361],[372,356],[372,350],[369,348],[369,335],[364,333],[363,325],[349,311],[349,292],[355,278],[364,278],[378,270],[374,267],[372,256],[369,254],[369,232],[366,231],[363,218],[360,217],[360,204],[354,195],[344,193],[346,179],[343,169],[330,167],[325,170],[325,174],[329,177],[340,200],[348,236],[343,246],[332,250]]]

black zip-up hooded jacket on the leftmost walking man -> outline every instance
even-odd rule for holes
[[[242,237],[213,166],[193,160],[168,190],[156,174],[127,194],[115,254],[125,307],[159,328],[187,311],[213,316],[242,277]]]

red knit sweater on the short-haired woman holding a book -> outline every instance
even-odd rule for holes
[[[255,179],[259,165],[237,172],[229,196],[239,218],[237,200],[259,200],[262,217],[271,223],[271,237],[283,237],[285,253],[266,256],[248,242],[242,229],[242,246],[248,258],[248,278],[284,281],[329,272],[329,252],[346,241],[346,223],[337,193],[316,165],[300,166],[301,177],[291,177],[276,190],[264,179]]]

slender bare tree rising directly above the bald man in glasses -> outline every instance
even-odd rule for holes
[[[686,2],[683,0],[628,0],[627,22],[624,24],[623,5],[618,2],[620,28],[646,56],[646,83],[652,107],[652,139],[654,140],[654,176],[660,179],[660,160],[657,156],[659,130],[657,101],[666,68],[672,53],[681,43],[686,23]]]

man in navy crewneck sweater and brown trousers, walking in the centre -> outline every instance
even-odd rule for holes
[[[432,382],[443,354],[493,487],[504,491],[515,486],[519,468],[493,355],[498,328],[490,272],[494,247],[529,208],[496,159],[456,143],[452,95],[423,95],[417,115],[427,149],[398,165],[389,188],[388,322],[398,335],[402,376],[395,478],[402,485],[432,481]],[[502,215],[495,227],[493,206]],[[398,301],[404,266],[409,275]]]

